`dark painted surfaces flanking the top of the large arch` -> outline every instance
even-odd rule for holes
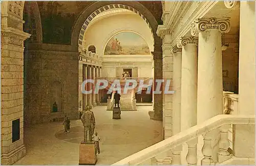
[[[80,13],[95,1],[37,2],[42,23],[42,42],[71,44],[72,28]],[[113,1],[113,3],[118,3]],[[160,1],[139,1],[162,24],[162,4]]]

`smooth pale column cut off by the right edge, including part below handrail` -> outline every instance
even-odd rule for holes
[[[240,1],[239,35],[239,112],[255,115],[255,1]],[[233,125],[233,134],[234,156],[253,164],[255,125]]]

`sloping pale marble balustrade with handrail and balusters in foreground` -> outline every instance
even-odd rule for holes
[[[129,157],[126,157],[113,165],[138,165],[138,164],[154,164],[152,161],[156,160],[157,164],[163,164],[165,158],[158,157],[159,154],[167,151],[177,151],[182,144],[188,145],[187,155],[185,157],[188,164],[197,164],[197,159],[200,158],[197,154],[197,144],[199,136],[203,136],[202,165],[215,164],[212,160],[213,149],[211,146],[212,135],[216,129],[220,129],[218,163],[226,161],[231,158],[228,152],[227,130],[229,125],[255,125],[254,115],[217,115],[210,118],[200,125],[193,126],[185,131],[182,131],[172,137],[162,140],[161,142],[143,149]],[[246,144],[246,142],[245,142]],[[173,165],[180,165],[180,152],[173,153]]]

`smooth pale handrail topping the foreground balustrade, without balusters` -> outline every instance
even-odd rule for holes
[[[189,140],[192,140],[204,133],[215,130],[223,125],[253,125],[255,124],[255,115],[226,115],[221,114],[210,118],[202,124],[193,126],[172,137],[164,139],[159,143],[143,149],[131,156],[128,156],[112,165],[136,165],[147,159],[157,156],[160,153],[173,149]]]

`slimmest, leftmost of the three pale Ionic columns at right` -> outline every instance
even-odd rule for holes
[[[173,135],[180,132],[180,107],[181,107],[181,51],[177,46],[172,48],[173,59]]]

